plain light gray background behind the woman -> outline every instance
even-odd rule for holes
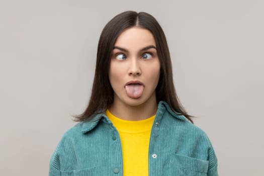
[[[89,100],[99,35],[126,10],[161,24],[174,82],[220,175],[264,175],[264,2],[0,1],[0,173],[47,175]]]

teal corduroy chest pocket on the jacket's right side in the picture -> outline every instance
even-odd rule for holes
[[[209,161],[171,153],[170,175],[179,176],[205,176],[207,175]]]

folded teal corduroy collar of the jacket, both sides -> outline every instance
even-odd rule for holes
[[[172,117],[180,119],[180,120],[187,120],[185,116],[180,113],[172,111],[166,102],[160,101],[158,104],[158,109],[155,117],[155,122],[161,121],[161,117],[163,116],[164,112],[168,112]],[[89,120],[85,120],[82,123],[81,132],[86,133],[94,129],[100,120],[103,120],[106,123],[112,124],[109,118],[106,116],[105,112],[94,114]]]

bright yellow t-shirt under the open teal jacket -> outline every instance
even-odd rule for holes
[[[148,175],[148,146],[155,115],[140,121],[128,121],[106,115],[116,127],[122,146],[124,176]]]

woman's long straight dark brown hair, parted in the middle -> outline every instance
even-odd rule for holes
[[[170,54],[163,30],[151,15],[133,11],[123,12],[115,16],[103,29],[98,43],[97,63],[90,102],[81,115],[75,116],[75,121],[80,122],[89,119],[93,114],[105,111],[113,103],[114,92],[108,76],[113,47],[121,32],[135,26],[149,30],[156,42],[160,61],[156,101],[166,102],[173,111],[184,115],[193,122],[192,116],[187,114],[174,89]]]

